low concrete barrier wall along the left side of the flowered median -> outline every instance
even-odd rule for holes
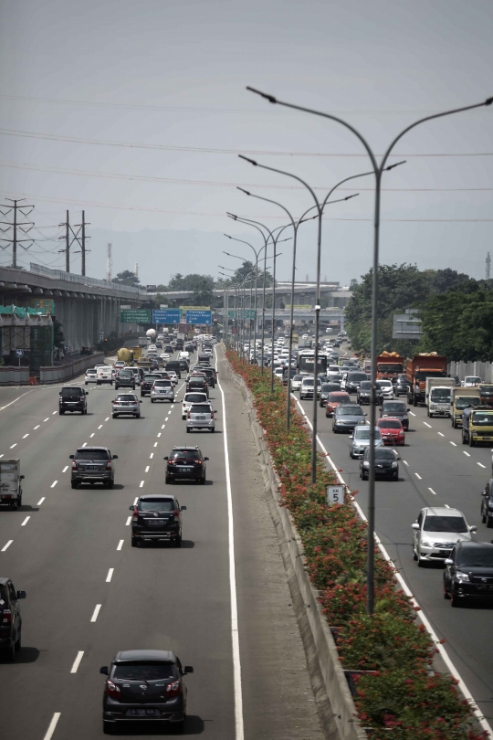
[[[367,735],[357,720],[351,692],[339,661],[339,653],[324,617],[316,591],[305,571],[305,558],[299,533],[285,506],[279,502],[280,481],[274,469],[263,428],[257,421],[252,396],[243,379],[232,372],[247,403],[250,428],[257,447],[266,486],[267,502],[276,526],[278,541],[288,574],[288,584],[296,609],[299,630],[307,653],[310,677],[324,732],[330,740],[361,740]],[[317,679],[321,677],[321,681]],[[321,685],[318,685],[321,684]],[[321,699],[321,701],[320,701]]]

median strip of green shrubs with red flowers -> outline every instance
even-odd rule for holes
[[[281,499],[298,528],[306,568],[334,634],[342,667],[352,674],[362,725],[374,740],[479,740],[471,707],[447,674],[433,670],[437,652],[408,597],[397,586],[393,566],[375,548],[375,599],[366,614],[366,524],[351,497],[325,503],[325,486],[336,482],[324,456],[311,483],[309,432],[293,405],[286,430],[286,390],[270,374],[227,353],[243,377],[281,483]]]

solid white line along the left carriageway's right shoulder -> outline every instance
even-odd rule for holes
[[[216,354],[217,359],[217,354]],[[236,740],[243,740],[243,694],[241,687],[241,661],[239,651],[238,635],[238,608],[236,602],[236,570],[235,570],[235,528],[233,521],[233,497],[231,493],[231,476],[229,472],[229,451],[227,445],[227,426],[226,426],[226,400],[225,392],[220,383],[217,384],[221,391],[223,401],[223,441],[225,444],[225,461],[226,461],[226,493],[227,493],[227,520],[228,520],[228,541],[229,541],[229,597],[231,601],[231,641],[233,647],[233,682],[235,689],[235,725]]]

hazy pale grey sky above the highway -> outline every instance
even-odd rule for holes
[[[249,234],[226,210],[284,223],[279,208],[236,185],[296,216],[312,205],[294,181],[236,153],[298,174],[320,196],[369,168],[350,132],[272,106],[246,85],[337,111],[382,153],[415,119],[493,95],[492,37],[490,0],[0,0],[0,196],[26,195],[40,227],[21,259],[62,265],[58,241],[43,239],[61,233],[66,208],[79,223],[85,207],[92,228],[114,232],[117,250],[116,232],[157,232],[158,264],[134,235],[144,282],[176,270],[216,274],[217,257],[200,248],[172,253],[173,231]],[[493,106],[427,123],[399,143],[393,161],[407,164],[384,177],[381,261],[484,277],[492,131]],[[351,192],[360,196],[330,206],[323,227],[322,275],[341,282],[371,263],[372,178],[341,196]],[[259,245],[253,229],[251,239]],[[313,228],[300,230],[299,277],[314,278],[314,242]],[[288,278],[288,245],[282,251],[278,274]],[[89,274],[100,276],[102,257],[89,255]],[[133,254],[125,259],[119,269],[131,268]]]

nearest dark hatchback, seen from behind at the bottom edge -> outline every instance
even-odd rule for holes
[[[103,732],[113,735],[115,725],[168,724],[184,732],[186,684],[193,673],[171,650],[121,650],[100,673],[108,676],[103,694]],[[137,727],[135,728],[137,729]],[[139,733],[140,735],[140,733]]]

